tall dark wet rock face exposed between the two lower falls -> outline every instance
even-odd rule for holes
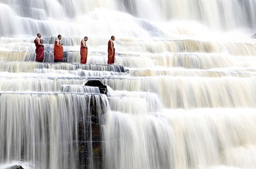
[[[78,168],[102,168],[102,137],[101,125],[102,117],[105,110],[100,108],[96,103],[95,96],[88,98],[87,103],[90,103],[90,111],[88,117],[80,114],[78,124],[77,142],[78,144]],[[86,119],[86,120],[84,120]]]

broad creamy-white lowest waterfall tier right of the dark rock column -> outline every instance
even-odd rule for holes
[[[159,117],[108,112],[105,167],[254,168],[254,112],[172,110]]]

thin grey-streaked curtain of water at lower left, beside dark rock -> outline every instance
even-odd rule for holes
[[[88,160],[88,167],[95,168],[91,119],[108,109],[106,97],[3,93],[0,100],[0,132],[5,135],[0,138],[1,162],[25,160],[37,168],[81,168]]]

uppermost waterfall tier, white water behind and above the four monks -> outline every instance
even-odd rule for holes
[[[203,22],[220,30],[246,26],[255,31],[255,9],[254,0],[143,0],[140,2],[45,0],[36,3],[2,0],[0,1],[2,23],[0,37],[36,35],[37,32],[45,36],[57,36],[59,33],[65,36],[81,36],[83,30],[89,35],[105,36],[115,33],[118,36],[148,37],[152,27],[158,32],[155,35],[161,35],[163,32],[166,36],[168,35],[168,31],[164,30],[166,24],[173,24],[171,21],[175,20]],[[9,22],[10,20],[12,22]],[[159,20],[164,21],[165,25],[158,24],[156,21]],[[172,26],[180,31],[185,29],[182,23]],[[19,29],[15,29],[17,27]]]

